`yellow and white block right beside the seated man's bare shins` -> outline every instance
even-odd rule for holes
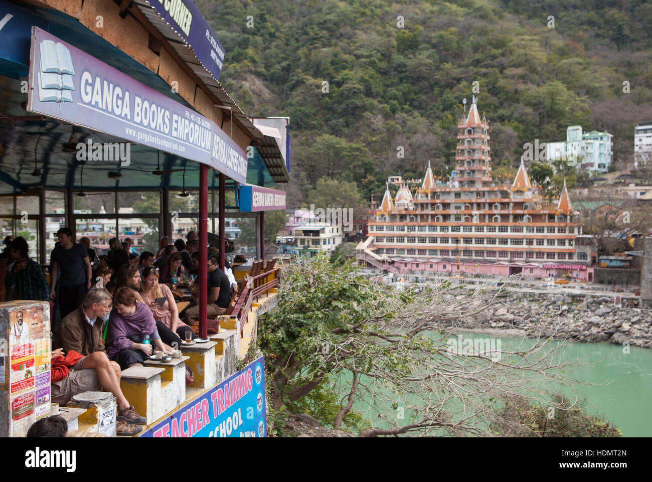
[[[126,399],[148,424],[166,414],[162,394],[170,380],[162,383],[163,372],[165,369],[159,367],[131,367],[123,370],[120,378],[120,388]]]

